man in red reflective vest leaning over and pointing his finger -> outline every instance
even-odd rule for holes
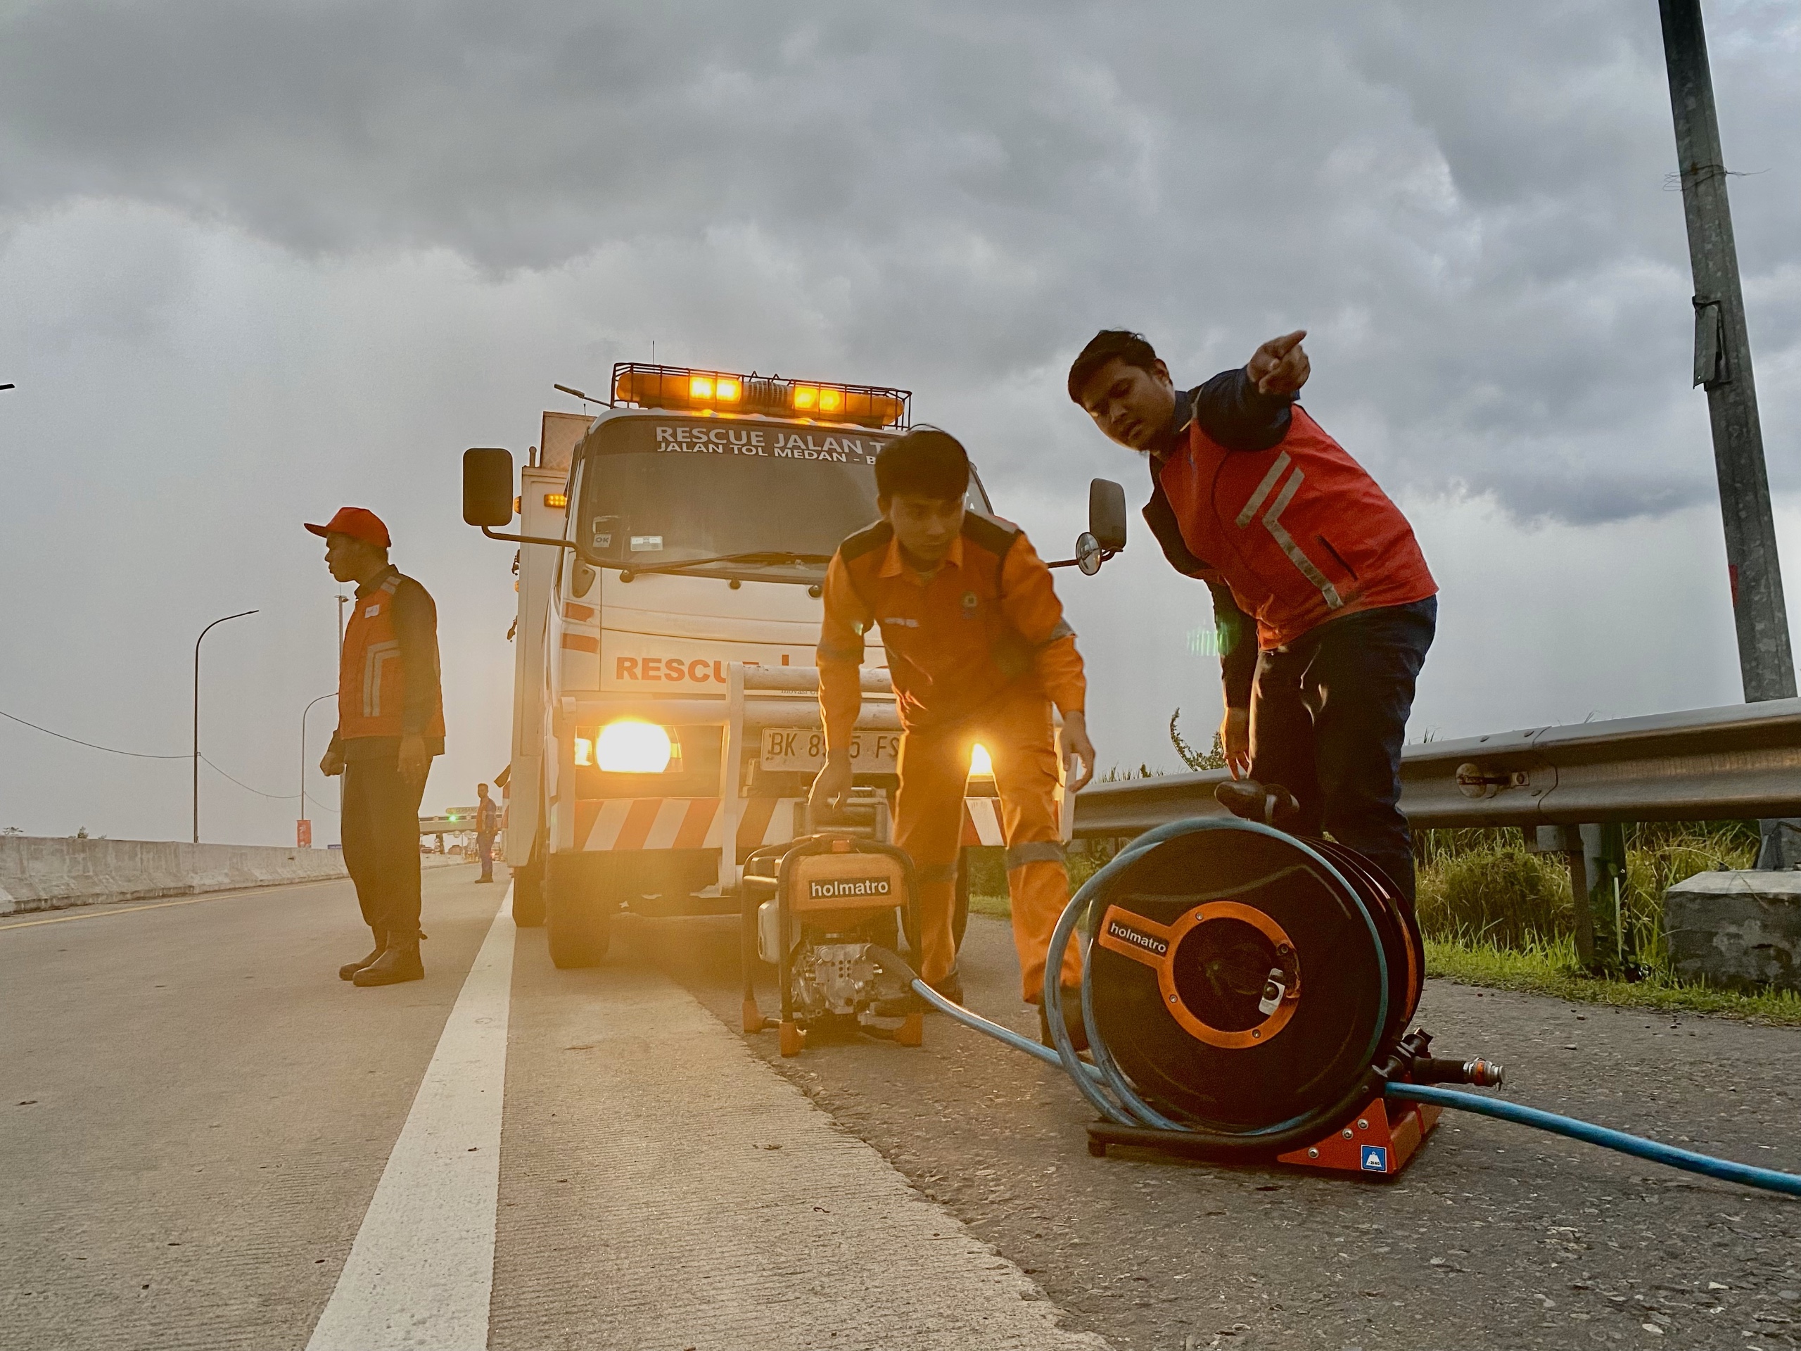
[[[1401,510],[1295,402],[1306,331],[1194,389],[1136,333],[1097,333],[1070,398],[1151,467],[1145,521],[1214,593],[1228,811],[1329,832],[1412,901],[1401,742],[1437,584]],[[1255,623],[1255,643],[1252,638]]]

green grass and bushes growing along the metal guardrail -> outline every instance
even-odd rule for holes
[[[1223,764],[1219,739],[1192,751],[1169,721],[1171,742],[1192,769]],[[1100,782],[1151,778],[1158,771],[1113,767]],[[1749,868],[1758,854],[1751,821],[1648,823],[1626,829],[1626,884],[1621,893],[1623,976],[1596,976],[1576,958],[1576,906],[1561,854],[1534,854],[1520,830],[1423,830],[1414,843],[1419,866],[1419,928],[1426,971],[1491,989],[1549,994],[1583,1003],[1706,1012],[1801,1027],[1801,994],[1736,991],[1679,982],[1664,949],[1662,895],[1709,868]],[[1072,890],[1113,856],[1108,841],[1070,848]],[[1000,848],[969,852],[969,908],[1005,919],[1007,874]]]

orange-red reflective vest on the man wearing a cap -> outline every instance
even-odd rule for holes
[[[441,740],[445,735],[436,638],[429,652],[418,656],[421,665],[429,663],[429,670],[409,672],[402,659],[394,630],[394,594],[402,587],[418,591],[414,600],[432,605],[425,587],[394,567],[375,585],[357,589],[357,607],[344,629],[344,654],[339,659],[337,740],[412,735]],[[436,629],[436,618],[432,623]]]

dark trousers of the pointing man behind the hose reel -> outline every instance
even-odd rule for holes
[[[1401,814],[1401,742],[1414,681],[1437,629],[1437,596],[1327,620],[1257,654],[1250,773],[1300,802],[1293,832],[1322,830],[1414,899],[1414,845]]]

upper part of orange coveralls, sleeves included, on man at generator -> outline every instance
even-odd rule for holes
[[[1082,657],[1050,569],[1005,521],[967,512],[949,557],[924,582],[886,521],[837,546],[818,648],[828,746],[846,744],[855,726],[870,625],[881,627],[908,731],[953,724],[1012,690],[1048,697],[1064,713],[1082,710]]]

